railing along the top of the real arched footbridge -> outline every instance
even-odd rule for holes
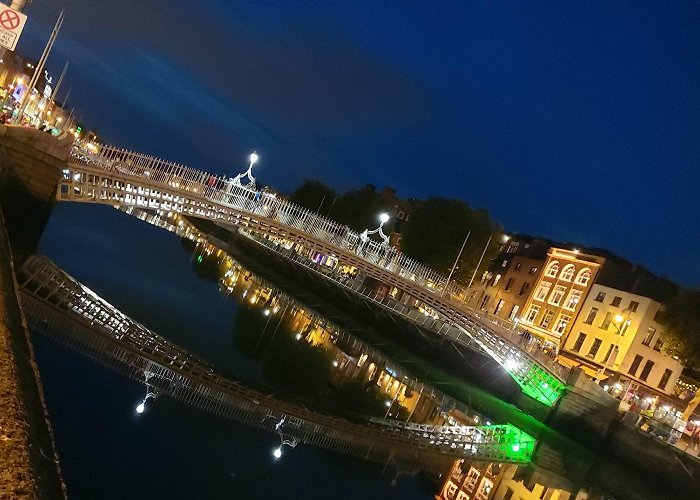
[[[532,339],[523,342],[523,339],[526,339],[524,336],[526,334],[518,331],[519,335],[515,335],[510,329],[494,325],[491,321],[480,317],[477,318],[474,311],[468,311],[464,303],[455,302],[452,293],[440,293],[441,283],[446,281],[444,276],[384,244],[372,240],[362,241],[359,234],[351,231],[347,226],[341,226],[335,221],[320,217],[285,200],[268,195],[264,196],[240,183],[234,183],[232,179],[217,178],[176,163],[165,162],[155,157],[112,146],[102,146],[97,154],[74,149],[73,161],[89,170],[116,172],[127,183],[130,177],[138,178],[139,184],[127,185],[125,189],[133,196],[138,196],[141,193],[140,186],[146,186],[145,192],[141,194],[147,196],[149,193],[147,186],[160,185],[166,187],[166,192],[186,191],[192,193],[185,195],[187,199],[200,198],[221,207],[231,207],[238,212],[262,215],[288,227],[296,227],[336,248],[351,252],[374,266],[384,268],[405,280],[415,282],[417,286],[432,292],[436,302],[447,305],[448,319],[459,317],[472,323],[476,330],[491,332],[491,334],[514,345],[524,346],[526,356],[531,356],[561,381],[566,380],[566,370],[553,362],[548,353],[542,352],[539,348],[533,348],[536,346]],[[151,194],[158,194],[153,188],[150,189]],[[178,202],[180,196],[173,195],[173,198],[174,202]],[[217,209],[214,208],[214,210]],[[454,289],[453,287],[463,290],[458,285],[451,283],[450,289]],[[464,295],[464,292],[461,293]],[[515,353],[516,356],[519,354],[520,352]]]

